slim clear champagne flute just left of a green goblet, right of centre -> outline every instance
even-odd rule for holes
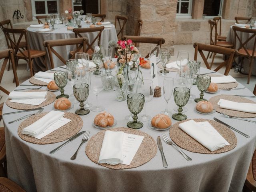
[[[166,102],[166,107],[164,111],[161,111],[161,114],[165,114],[168,116],[171,116],[172,112],[168,111],[168,102],[170,98],[172,97],[172,91],[173,91],[173,78],[171,77],[165,77],[164,82],[163,82],[163,94],[164,94],[164,99]]]

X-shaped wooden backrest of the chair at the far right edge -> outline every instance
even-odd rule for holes
[[[244,49],[247,56],[249,58],[251,58],[251,57],[253,58],[254,53],[255,53],[255,47],[256,47],[256,30],[255,29],[242,28],[242,27],[238,27],[238,26],[233,26],[232,28],[233,28],[234,34],[235,34],[235,43],[234,44],[236,45],[236,39],[238,39],[238,41],[240,42],[240,47],[237,50],[239,51],[240,49]],[[243,33],[248,33],[249,38],[243,41],[240,38],[240,36],[238,35],[238,33],[237,33],[238,31],[243,32]],[[250,40],[254,41],[253,48],[252,48],[252,53],[249,53],[248,49],[246,48],[246,44]]]

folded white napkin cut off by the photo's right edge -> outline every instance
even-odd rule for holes
[[[239,103],[225,99],[220,99],[218,105],[220,106],[220,108],[224,109],[242,111],[247,113],[256,113],[256,104],[254,103]]]

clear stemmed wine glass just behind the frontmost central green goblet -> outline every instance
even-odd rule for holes
[[[143,79],[143,82],[140,84],[138,92],[144,95],[145,102],[150,102],[154,96],[154,87],[153,81],[150,79]],[[140,120],[148,121],[151,119],[151,116],[146,114],[146,106],[144,107],[144,114],[140,116]]]

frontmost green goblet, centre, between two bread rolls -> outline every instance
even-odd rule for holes
[[[142,111],[144,106],[145,98],[141,93],[130,93],[127,96],[127,105],[130,112],[133,114],[133,121],[129,121],[127,126],[133,129],[139,129],[143,127],[143,123],[137,121],[138,114]]]

